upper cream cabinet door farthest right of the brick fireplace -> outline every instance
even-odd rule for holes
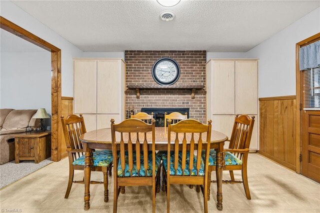
[[[257,61],[235,61],[235,113],[257,114]]]

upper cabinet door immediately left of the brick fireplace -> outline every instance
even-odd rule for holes
[[[121,60],[98,60],[97,113],[120,113]]]

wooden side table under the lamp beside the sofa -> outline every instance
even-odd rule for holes
[[[51,131],[25,132],[14,135],[15,163],[20,160],[34,160],[38,163],[51,154]]]

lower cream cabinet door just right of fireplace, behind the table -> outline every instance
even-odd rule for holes
[[[212,129],[222,132],[230,139],[234,115],[212,115]],[[224,142],[224,148],[228,148],[229,142]]]

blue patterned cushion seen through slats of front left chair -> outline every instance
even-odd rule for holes
[[[127,152],[125,152],[124,158],[125,158],[124,176],[129,177],[130,176],[129,164],[128,164],[129,157],[128,157]],[[139,170],[139,175],[138,175],[138,169],[136,167],[136,154],[135,154],[135,152],[133,152],[132,177],[145,176],[145,169],[144,169],[143,160],[144,160],[143,152],[141,152],[141,154],[140,154],[140,170]],[[160,161],[161,161],[161,158],[159,156],[155,155],[155,174],[160,167]],[[119,161],[118,161],[118,176],[123,177],[123,170],[121,169],[121,157],[119,157]],[[152,176],[152,151],[148,152],[148,167],[146,169],[146,176]]]

